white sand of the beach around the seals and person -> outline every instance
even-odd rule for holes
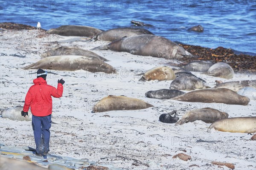
[[[20,68],[41,59],[40,53],[60,45],[79,47],[86,50],[102,45],[101,42],[72,42],[68,39],[33,31],[1,31],[1,109],[23,105],[26,92],[33,85],[36,70]],[[5,36],[5,37],[4,37]],[[15,38],[15,36],[17,36]],[[43,37],[43,38],[35,38]],[[5,40],[8,37],[8,40]],[[24,41],[26,38],[26,42]],[[41,42],[41,40],[43,42]],[[54,42],[57,40],[59,42]],[[82,38],[81,40],[85,40]],[[38,43],[38,42],[41,43]],[[107,44],[107,43],[105,43]],[[20,52],[25,58],[12,57]],[[256,101],[249,105],[225,105],[219,103],[190,103],[175,100],[159,100],[145,97],[145,92],[169,88],[171,81],[139,82],[136,76],[155,66],[169,65],[172,60],[156,57],[136,56],[126,52],[93,51],[110,61],[118,74],[90,73],[87,71],[53,71],[47,83],[57,86],[57,80],[65,80],[64,93],[60,99],[53,99],[50,153],[87,158],[98,164],[113,164],[123,169],[228,169],[212,165],[212,161],[229,162],[236,170],[256,169],[256,141],[247,133],[207,133],[210,124],[195,121],[182,126],[159,122],[162,113],[177,110],[179,117],[194,108],[212,107],[225,111],[230,117],[256,116]],[[174,62],[175,63],[175,62]],[[196,74],[196,73],[195,73]],[[198,75],[213,87],[215,80],[236,81],[256,79],[255,75],[236,73],[233,79],[221,79]],[[109,111],[91,113],[96,102],[107,95],[125,95],[142,99],[154,108],[139,111]],[[104,116],[104,115],[109,115]],[[18,122],[0,118],[1,144],[35,147],[31,122]],[[208,142],[197,142],[198,140]],[[216,141],[210,143],[209,141]],[[177,153],[184,153],[192,159],[172,159]],[[196,164],[199,167],[189,167]]]

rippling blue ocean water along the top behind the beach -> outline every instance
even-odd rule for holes
[[[0,0],[0,22],[44,29],[134,27],[131,20],[173,41],[256,55],[256,0]],[[198,24],[204,32],[188,31]]]

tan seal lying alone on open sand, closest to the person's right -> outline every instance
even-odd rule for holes
[[[126,96],[109,95],[101,99],[94,107],[93,113],[105,111],[125,111],[140,110],[154,107],[140,99],[130,98]]]

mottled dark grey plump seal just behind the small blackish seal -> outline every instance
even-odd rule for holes
[[[187,77],[186,75],[182,75],[174,79],[169,88],[173,90],[191,91],[210,87],[204,85],[204,82],[197,77]]]

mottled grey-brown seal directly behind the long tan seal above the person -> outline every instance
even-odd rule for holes
[[[85,57],[96,57],[103,61],[109,61],[104,57],[99,56],[92,51],[84,50],[81,48],[74,48],[74,47],[57,47],[52,48],[41,54],[41,58],[49,57],[49,56],[62,56],[62,55],[75,55],[75,56],[85,56]]]

